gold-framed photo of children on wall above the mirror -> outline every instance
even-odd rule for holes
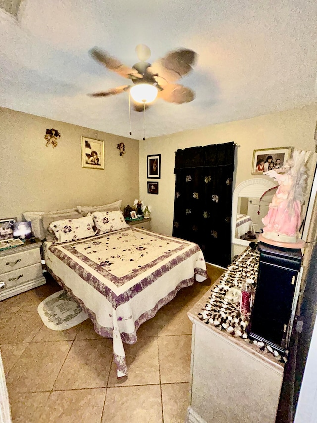
[[[253,151],[251,175],[261,175],[282,168],[291,156],[292,147],[267,148]]]

